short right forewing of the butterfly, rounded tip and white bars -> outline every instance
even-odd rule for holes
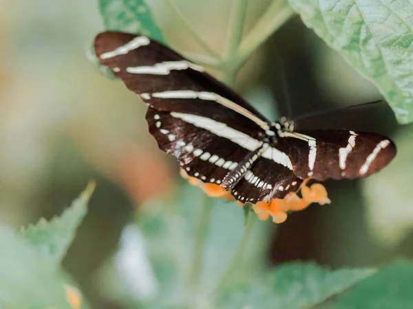
[[[396,155],[390,139],[352,130],[284,133],[280,146],[301,179],[357,179],[378,172]]]

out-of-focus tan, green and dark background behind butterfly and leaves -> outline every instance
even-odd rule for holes
[[[250,2],[245,32],[270,1]],[[174,3],[205,41],[222,50],[230,0]],[[201,51],[162,0],[149,5],[174,48]],[[102,30],[96,1],[3,3],[0,220],[19,227],[51,218],[96,179],[89,214],[64,266],[98,308],[115,308],[95,288],[96,270],[116,251],[136,208],[151,196],[173,192],[180,182],[176,162],[147,133],[145,104],[87,60],[92,39]],[[311,125],[324,128],[324,120],[338,117],[342,127],[389,135],[399,149],[388,168],[369,179],[328,181],[331,205],[292,214],[276,231],[273,226],[267,236],[273,263],[370,266],[413,257],[413,126],[396,124],[383,104],[363,113],[352,109],[351,117],[341,111],[379,99],[370,82],[295,16],[248,60],[235,89],[274,117],[288,113],[287,102],[296,117],[335,109]]]

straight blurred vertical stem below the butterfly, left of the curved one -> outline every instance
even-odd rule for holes
[[[213,199],[207,196],[207,194],[202,195],[204,196],[204,200],[202,201],[198,223],[196,225],[195,252],[193,253],[192,265],[189,273],[189,284],[191,285],[191,288],[195,287],[200,279],[204,249],[208,236],[208,227],[213,209]]]

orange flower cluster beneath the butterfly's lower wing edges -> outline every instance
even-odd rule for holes
[[[187,172],[181,170],[181,175],[188,179],[191,185],[198,185],[208,196],[219,197],[224,199],[233,199],[231,191],[226,191],[220,185],[214,183],[204,183],[195,177],[188,176]],[[255,214],[260,220],[272,218],[275,223],[282,223],[287,219],[288,211],[299,211],[306,209],[311,203],[319,203],[320,205],[330,204],[330,199],[327,197],[326,188],[320,183],[314,183],[311,187],[307,186],[309,179],[306,179],[301,184],[302,198],[296,193],[290,192],[284,198],[274,198],[269,203],[260,201],[253,205]],[[244,203],[237,201],[241,207]]]

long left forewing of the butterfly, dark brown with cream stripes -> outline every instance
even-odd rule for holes
[[[257,139],[268,129],[268,120],[239,95],[146,36],[103,32],[94,49],[103,65],[158,111],[207,117]]]

